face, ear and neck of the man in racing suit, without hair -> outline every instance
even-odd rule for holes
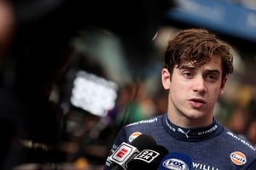
[[[162,82],[169,89],[169,115],[180,117],[177,122],[186,117],[209,123],[226,78],[222,79],[221,59],[213,55],[210,62],[199,68],[187,63],[174,67],[172,75],[163,69]]]

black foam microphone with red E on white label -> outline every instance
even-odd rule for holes
[[[141,134],[134,139],[131,144],[123,142],[119,145],[117,150],[109,156],[109,160],[113,161],[115,165],[112,170],[125,169],[127,170],[127,163],[136,156],[141,150],[153,148],[156,142],[153,137],[148,134]]]

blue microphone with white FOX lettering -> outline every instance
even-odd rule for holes
[[[192,158],[182,152],[170,152],[160,162],[159,170],[192,170]]]

